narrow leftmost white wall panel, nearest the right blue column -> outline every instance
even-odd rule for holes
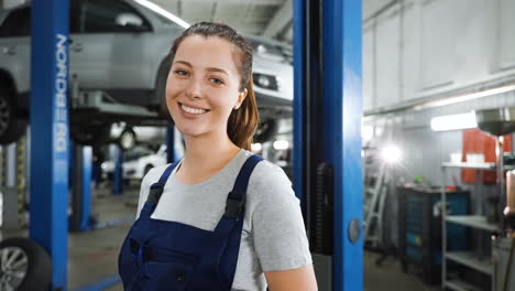
[[[363,31],[363,110],[373,108],[374,99],[374,30]]]

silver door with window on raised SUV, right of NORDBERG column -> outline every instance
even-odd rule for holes
[[[83,0],[80,33],[70,46],[79,86],[110,93],[121,103],[138,104],[144,89],[144,37],[151,24],[124,1]],[[143,96],[136,96],[143,99]]]

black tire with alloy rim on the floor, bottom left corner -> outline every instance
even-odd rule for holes
[[[52,261],[44,248],[28,238],[10,238],[0,242],[0,290],[47,291],[52,282]],[[11,276],[21,273],[21,278]]]

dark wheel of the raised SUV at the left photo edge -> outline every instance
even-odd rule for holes
[[[26,130],[26,119],[17,116],[13,96],[0,87],[0,143],[8,144],[19,140]]]

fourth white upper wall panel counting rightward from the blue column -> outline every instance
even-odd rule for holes
[[[454,8],[454,0],[426,1],[423,7],[421,86],[425,89],[452,82]]]

